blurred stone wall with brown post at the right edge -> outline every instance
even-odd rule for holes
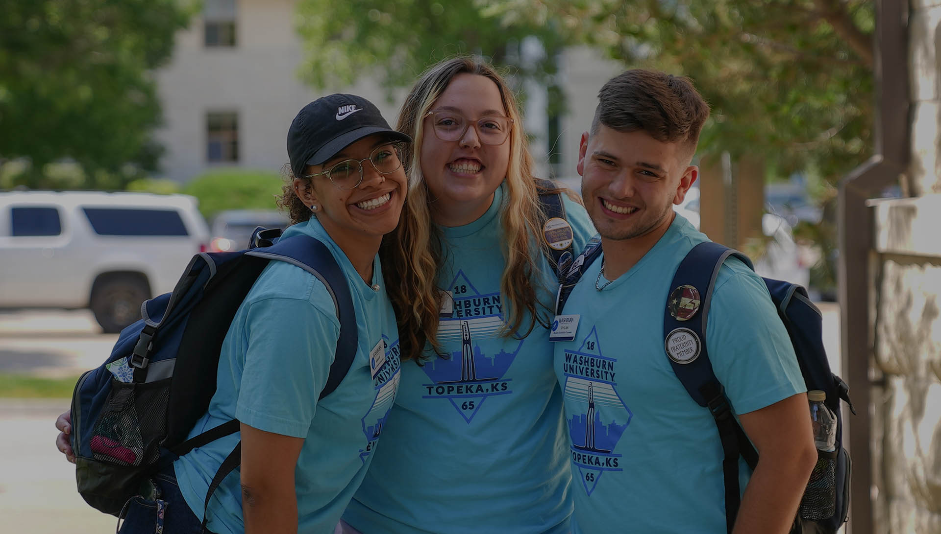
[[[941,532],[941,1],[875,7],[876,155],[839,196],[850,526]]]

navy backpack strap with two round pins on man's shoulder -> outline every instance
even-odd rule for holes
[[[693,247],[670,283],[663,315],[663,348],[679,382],[697,404],[709,408],[722,442],[722,471],[726,485],[726,528],[732,531],[739,513],[739,457],[754,469],[758,452],[742,431],[715,377],[706,347],[706,322],[719,269],[729,256],[749,267],[742,253],[722,244],[705,242]]]

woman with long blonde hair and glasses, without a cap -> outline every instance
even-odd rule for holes
[[[415,140],[407,215],[381,254],[403,354],[423,365],[403,367],[345,527],[568,532],[546,327],[557,282],[513,92],[486,63],[443,61],[412,87],[397,129]],[[595,232],[581,205],[565,208],[577,252]]]

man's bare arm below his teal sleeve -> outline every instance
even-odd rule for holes
[[[805,393],[739,416],[758,449],[734,534],[787,534],[817,463]]]

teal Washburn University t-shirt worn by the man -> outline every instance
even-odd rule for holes
[[[597,259],[566,303],[565,314],[581,314],[575,339],[555,343],[575,532],[726,532],[715,423],[679,382],[663,348],[669,285],[680,260],[704,241],[678,215],[646,256],[602,291]],[[706,343],[736,414],[805,391],[771,296],[738,259],[719,271]],[[743,462],[740,473],[743,489]]]

